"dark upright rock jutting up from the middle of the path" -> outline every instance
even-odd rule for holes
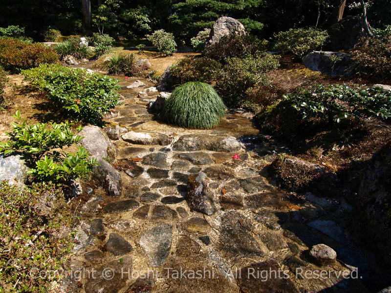
[[[205,173],[200,172],[189,176],[186,200],[191,209],[206,215],[212,215],[216,208],[211,196]]]

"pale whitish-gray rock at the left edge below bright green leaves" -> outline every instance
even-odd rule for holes
[[[22,156],[4,156],[0,153],[0,181],[8,180],[10,184],[24,187],[24,175],[28,171]]]

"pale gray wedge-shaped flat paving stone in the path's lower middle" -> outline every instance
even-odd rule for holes
[[[166,261],[171,250],[173,227],[169,224],[148,229],[139,240],[148,263],[152,267],[160,267]]]

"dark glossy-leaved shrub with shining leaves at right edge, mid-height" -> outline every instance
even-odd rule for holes
[[[304,118],[317,117],[339,123],[342,119],[391,117],[391,92],[347,84],[312,85],[284,96]]]

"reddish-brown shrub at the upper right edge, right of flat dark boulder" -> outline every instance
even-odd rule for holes
[[[362,39],[351,52],[358,75],[391,80],[391,34],[389,42],[379,39]]]

